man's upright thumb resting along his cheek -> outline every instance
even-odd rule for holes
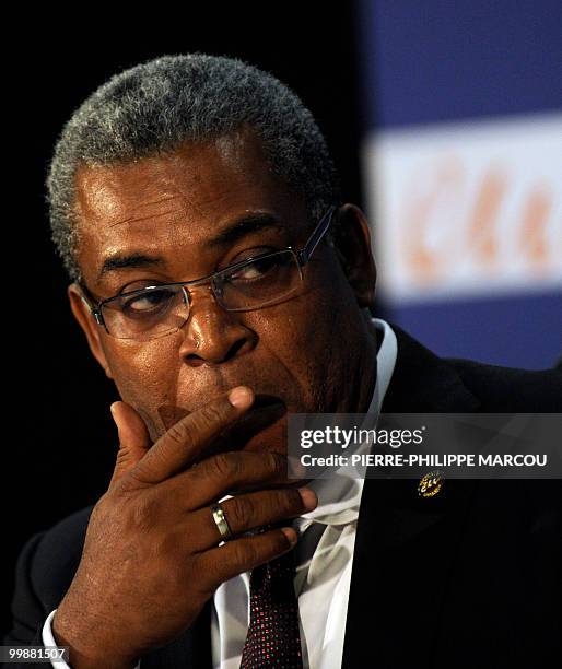
[[[119,435],[119,450],[109,486],[136,467],[152,446],[144,421],[126,402],[114,402],[109,407]]]

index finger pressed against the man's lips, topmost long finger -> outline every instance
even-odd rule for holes
[[[182,471],[221,432],[241,418],[253,402],[250,388],[238,386],[189,413],[172,425],[131,473],[143,483],[159,483]]]

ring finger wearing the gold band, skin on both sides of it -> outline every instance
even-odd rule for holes
[[[231,532],[236,536],[281,520],[286,524],[289,518],[313,510],[316,504],[315,493],[307,488],[278,489],[236,495],[221,502],[221,508]],[[198,528],[197,532],[192,532],[192,539],[197,541],[197,545],[194,544],[196,550],[211,549],[222,541],[211,507],[195,512],[190,521]]]

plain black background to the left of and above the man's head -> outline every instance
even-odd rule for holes
[[[247,5],[249,7],[249,5]],[[257,7],[257,4],[256,4]],[[91,15],[15,49],[5,69],[4,527],[1,627],[10,625],[16,556],[34,532],[105,491],[116,454],[113,384],[91,356],[71,316],[67,278],[49,238],[45,173],[62,124],[112,74],[164,54],[234,56],[289,84],[325,132],[348,200],[361,203],[356,17],[353,2],[296,3],[225,11],[221,3],[178,14],[166,5],[139,26]],[[85,21],[87,19],[87,22]],[[46,26],[45,26],[46,27]],[[12,80],[13,78],[13,80]],[[7,305],[4,305],[7,306]]]

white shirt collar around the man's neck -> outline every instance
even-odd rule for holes
[[[380,413],[380,407],[390,384],[398,344],[396,334],[385,320],[372,318],[372,322],[380,338],[380,347],[376,355],[377,378],[367,413],[375,416],[376,420]],[[364,479],[351,476],[348,468],[336,471],[329,479],[315,479],[311,481],[307,488],[311,488],[316,493],[318,506],[314,510],[296,518],[294,523],[295,529],[302,533],[313,523],[347,525],[356,520],[363,483]]]

